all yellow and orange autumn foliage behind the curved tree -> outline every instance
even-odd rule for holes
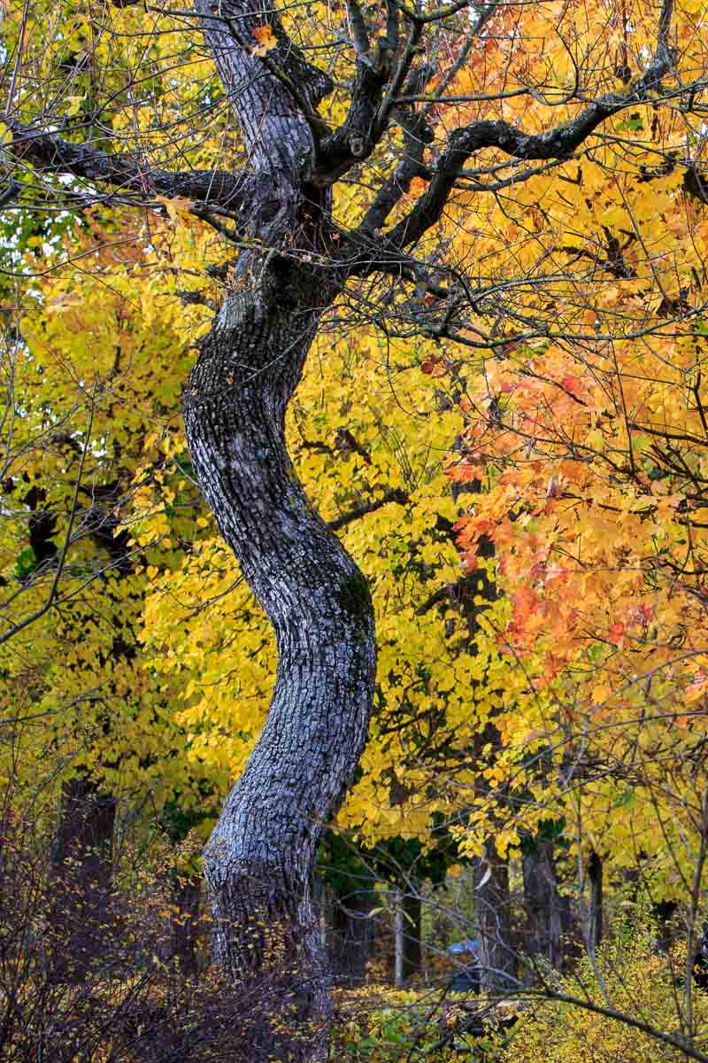
[[[89,6],[6,14],[7,47],[23,49],[23,119],[41,88],[70,142],[86,126],[115,153],[137,138],[159,166],[243,162],[194,24],[172,12],[156,32],[150,5],[101,17]],[[332,182],[330,249],[405,152],[419,150],[419,165],[376,248],[421,203],[432,209],[452,128],[504,121],[542,137],[638,84],[664,32],[650,0],[500,4],[473,37],[471,11],[453,6],[445,29],[410,44],[434,72],[398,86],[400,121]],[[295,473],[366,575],[376,613],[369,742],[335,828],[367,851],[413,840],[426,850],[444,834],[483,876],[550,829],[566,880],[579,868],[579,923],[584,868],[601,854],[616,882],[639,867],[653,900],[683,905],[689,940],[708,839],[703,6],[664,5],[669,72],[573,150],[476,149],[415,257],[398,275],[352,273],[324,314],[287,418]],[[322,133],[347,114],[356,49],[342,43],[358,5],[298,11],[283,7],[282,24],[334,79]],[[385,11],[369,16],[383,33]],[[270,23],[247,44],[275,63]],[[430,139],[414,149],[424,111]],[[10,144],[11,126],[0,134]],[[16,155],[27,216],[61,209],[18,229],[0,292],[12,424],[0,455],[3,775],[31,786],[51,761],[55,800],[68,778],[90,776],[141,839],[155,824],[205,839],[277,668],[182,420],[195,352],[244,283],[236,251],[251,236],[191,198],[138,198],[133,179],[120,202],[91,193],[82,205],[88,179],[66,196],[53,172],[31,187]],[[606,1003],[598,986],[612,983],[616,954],[595,963],[585,937],[580,984]],[[610,990],[632,1011],[661,964],[643,938],[628,951]],[[664,1030],[674,989],[661,966],[642,1002]],[[691,1007],[681,1035],[705,1022],[705,999]],[[582,1059],[588,1037],[595,1052],[590,1013],[573,1014],[554,1003],[528,1016],[511,1063],[550,1040],[558,1063]],[[408,1022],[385,1001],[376,1015],[377,1036]],[[599,1036],[593,1060],[647,1058],[634,1033]]]

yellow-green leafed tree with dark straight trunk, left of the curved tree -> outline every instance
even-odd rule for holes
[[[12,704],[3,715],[7,746],[14,736],[24,750],[14,765],[22,780],[33,784],[37,771],[53,764],[54,781],[44,790],[54,792],[59,810],[53,922],[61,917],[65,946],[55,974],[73,971],[80,980],[108,937],[117,803],[121,817],[134,820],[140,808],[159,815],[178,793],[191,827],[213,811],[214,773],[205,787],[198,765],[190,770],[179,756],[174,691],[140,660],[146,562],[158,550],[154,542],[136,546],[118,518],[134,476],[143,475],[137,466],[149,454],[145,441],[178,407],[179,387],[166,381],[166,366],[185,357],[184,344],[169,313],[129,314],[132,283],[121,267],[135,264],[141,248],[129,219],[114,221],[105,231],[96,218],[64,219],[59,247],[69,256],[93,252],[90,241],[101,237],[80,301],[70,274],[45,270],[45,255],[57,250],[51,226],[38,248],[22,236],[8,252],[15,266],[39,276],[31,294],[15,281],[5,333],[7,378],[21,401],[14,409],[8,403],[2,483],[0,654]],[[160,477],[165,460],[159,450],[150,454],[145,477]],[[177,538],[193,536],[198,495],[189,493],[173,521]],[[158,539],[167,563],[165,536]],[[22,676],[33,703],[25,711],[13,689]]]

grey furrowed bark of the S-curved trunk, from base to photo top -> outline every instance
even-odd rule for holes
[[[281,248],[316,248],[329,196],[304,187],[312,115],[329,81],[282,34],[267,5],[196,0],[203,30],[264,197],[249,225]],[[267,22],[278,47],[252,54]],[[275,65],[298,98],[267,72]],[[265,66],[265,70],[263,67]],[[275,204],[275,209],[274,209]],[[313,511],[284,443],[284,415],[323,307],[344,274],[279,253],[242,252],[185,395],[194,469],[219,527],[271,620],[278,669],[267,719],[205,850],[213,949],[231,982],[267,993],[247,1034],[254,1060],[311,1059],[328,1014],[311,878],[322,826],[338,810],[366,741],[376,643],[366,580]],[[308,1031],[309,1032],[305,1032]],[[299,1031],[299,1032],[298,1032]]]

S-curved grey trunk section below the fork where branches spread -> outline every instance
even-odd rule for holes
[[[327,1013],[310,880],[322,825],[366,740],[375,675],[368,586],[311,508],[284,444],[286,407],[331,298],[273,268],[229,296],[185,400],[200,483],[278,647],[267,720],[205,851],[214,954],[232,982],[259,981],[272,1013],[290,1009],[290,1030]],[[254,1059],[311,1058],[273,1029],[277,1015],[257,1022]]]

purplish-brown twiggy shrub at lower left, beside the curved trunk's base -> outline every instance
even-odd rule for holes
[[[259,1016],[275,1025],[289,1002],[275,980],[231,990],[214,967],[189,974],[160,959],[170,955],[169,868],[131,861],[101,898],[104,917],[90,919],[90,894],[56,889],[51,816],[27,805],[20,814],[11,796],[0,792],[0,1059],[267,1063]],[[90,950],[82,921],[100,934]]]

